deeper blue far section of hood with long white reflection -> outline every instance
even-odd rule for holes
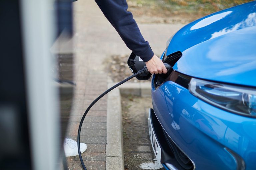
[[[172,38],[166,55],[210,40],[214,37],[256,25],[256,1],[228,8],[181,28]]]

